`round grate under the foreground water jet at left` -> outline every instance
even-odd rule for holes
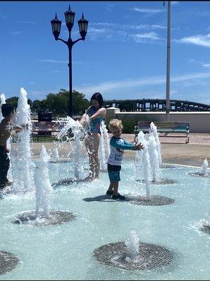
[[[61,223],[67,223],[73,221],[75,214],[70,211],[49,211],[49,218],[38,217],[35,211],[25,211],[16,216],[16,220],[13,223],[31,223],[32,226],[55,226]]]

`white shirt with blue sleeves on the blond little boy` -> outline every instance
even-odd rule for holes
[[[132,143],[128,143],[123,138],[111,137],[110,140],[110,155],[108,164],[114,166],[121,166],[124,150],[133,150]]]

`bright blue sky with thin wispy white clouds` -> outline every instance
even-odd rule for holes
[[[68,48],[50,20],[89,20],[73,46],[73,89],[104,99],[166,98],[167,1],[0,1],[0,93],[31,100],[68,89]],[[171,2],[171,99],[210,104],[210,1]]]

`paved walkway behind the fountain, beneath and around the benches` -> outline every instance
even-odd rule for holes
[[[109,134],[111,136],[111,134]],[[134,133],[123,133],[122,138],[127,141],[134,141]],[[184,164],[190,166],[202,166],[204,159],[207,158],[210,166],[210,133],[190,133],[190,143],[185,144],[185,138],[160,138],[161,154],[163,163]],[[54,148],[54,143],[31,143],[32,158],[39,158],[42,144],[47,151]],[[16,143],[12,143],[16,146]],[[58,146],[60,157],[67,157],[72,150],[70,143],[60,143]],[[85,150],[83,146],[83,150]],[[126,150],[124,159],[135,159],[135,152]]]

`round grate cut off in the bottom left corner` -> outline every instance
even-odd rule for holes
[[[8,253],[7,251],[0,251],[0,275],[13,270],[18,262],[18,258],[15,255]]]

